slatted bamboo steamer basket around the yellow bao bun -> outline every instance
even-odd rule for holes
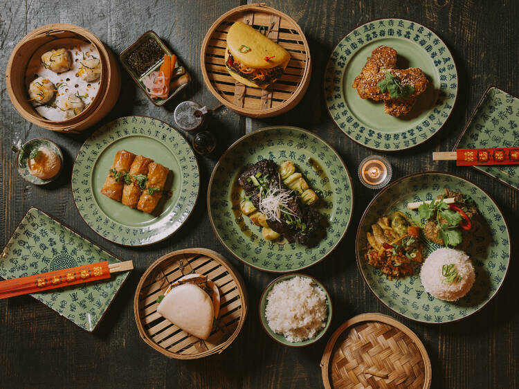
[[[246,87],[226,71],[226,36],[235,21],[261,28],[291,55],[282,77],[266,90]],[[307,38],[291,17],[264,4],[239,6],[221,15],[203,39],[200,62],[203,80],[211,93],[230,109],[252,118],[268,118],[289,111],[298,105],[310,83]]]

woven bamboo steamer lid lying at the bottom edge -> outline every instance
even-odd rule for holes
[[[424,344],[402,323],[381,314],[347,320],[329,339],[320,363],[325,388],[430,388]]]

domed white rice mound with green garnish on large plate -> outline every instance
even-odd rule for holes
[[[454,264],[462,279],[459,282],[444,282],[446,277],[441,274],[444,264]],[[471,260],[463,251],[453,248],[438,248],[430,253],[421,266],[420,278],[424,289],[432,296],[441,298],[441,300],[456,301],[471,290],[475,272]]]

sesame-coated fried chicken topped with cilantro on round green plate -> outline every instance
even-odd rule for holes
[[[394,69],[397,64],[397,51],[388,46],[379,46],[372,51],[367,59],[361,74],[353,83],[361,98],[371,98],[375,101],[384,100],[384,111],[391,116],[408,114],[417,100],[417,97],[427,89],[429,81],[424,72],[419,68]],[[385,78],[385,72],[389,71],[400,80],[402,85],[410,85],[415,91],[407,98],[391,98],[390,92],[381,92],[379,82]]]

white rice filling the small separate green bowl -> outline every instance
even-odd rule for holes
[[[326,293],[313,280],[296,276],[277,282],[266,296],[268,327],[289,342],[315,338],[328,317]]]

